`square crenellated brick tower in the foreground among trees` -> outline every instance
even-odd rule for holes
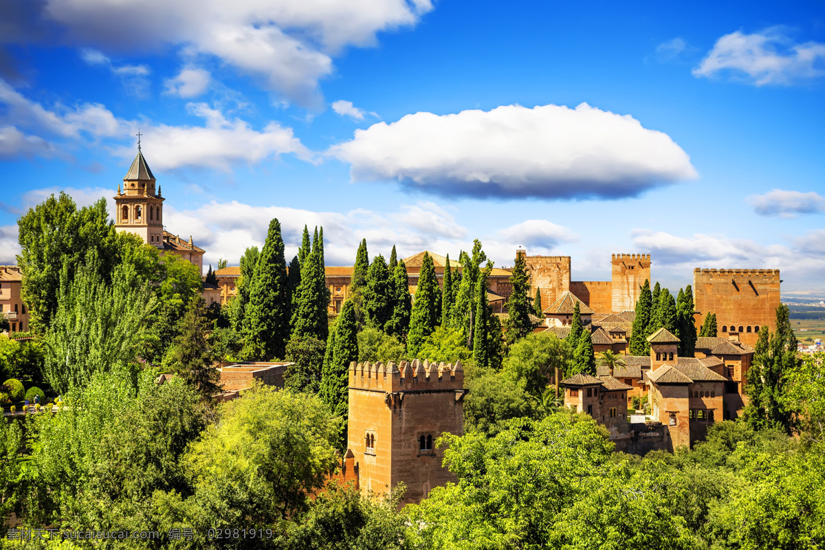
[[[386,493],[398,482],[404,502],[419,502],[433,487],[455,482],[441,467],[445,432],[464,434],[464,370],[460,362],[350,364],[348,452],[359,486]]]

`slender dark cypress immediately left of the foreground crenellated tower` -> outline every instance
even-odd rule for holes
[[[342,445],[346,445],[349,369],[350,363],[358,360],[358,323],[351,300],[344,302],[335,323],[335,336],[328,341],[332,342],[332,358],[324,360],[319,395],[334,416],[344,419]]]

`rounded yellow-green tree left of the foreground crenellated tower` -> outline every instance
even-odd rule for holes
[[[339,425],[309,393],[259,385],[224,404],[183,460],[209,522],[195,526],[271,529],[308,510],[337,463]]]

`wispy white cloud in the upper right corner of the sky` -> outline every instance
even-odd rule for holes
[[[825,74],[825,44],[794,44],[779,28],[746,35],[732,32],[716,40],[714,48],[693,69],[696,77],[730,74],[757,86],[790,85]]]

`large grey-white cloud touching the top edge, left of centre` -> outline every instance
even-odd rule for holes
[[[332,73],[332,55],[373,45],[376,33],[413,26],[431,9],[430,0],[47,0],[45,12],[81,44],[181,45],[308,104]]]

